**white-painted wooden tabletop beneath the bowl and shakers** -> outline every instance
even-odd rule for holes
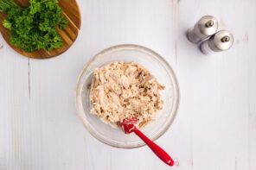
[[[100,50],[150,47],[170,62],[181,89],[175,123],[157,140],[179,170],[256,169],[256,1],[79,0],[82,27],[67,53],[29,60],[0,49],[0,169],[170,169],[149,148],[98,142],[80,123],[76,80]],[[185,31],[216,16],[231,50],[204,56]],[[2,39],[2,37],[1,37]]]

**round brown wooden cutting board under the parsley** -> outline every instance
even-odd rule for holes
[[[29,5],[28,0],[16,0],[16,3],[26,7]],[[26,53],[21,48],[14,47],[10,45],[10,31],[6,28],[3,28],[3,20],[6,17],[3,13],[0,13],[0,32],[3,35],[3,38],[7,43],[12,47],[17,53],[22,54],[23,56],[34,58],[34,59],[48,59],[55,56],[58,56],[65,51],[69,47],[72,46],[74,41],[76,40],[81,24],[80,17],[80,9],[75,0],[59,0],[59,4],[61,9],[63,9],[63,15],[69,21],[69,24],[65,30],[58,29],[58,33],[61,35],[63,39],[63,47],[54,49],[50,52],[46,52],[44,50],[35,51],[33,53]]]

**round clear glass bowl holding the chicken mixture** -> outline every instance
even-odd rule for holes
[[[151,140],[169,129],[174,121],[179,104],[179,88],[176,75],[170,65],[159,54],[146,47],[138,45],[118,45],[109,47],[90,60],[80,73],[76,89],[76,106],[78,115],[86,129],[100,142],[117,148],[137,148],[144,142],[133,133],[126,135],[121,129],[114,129],[103,123],[95,115],[90,114],[91,103],[89,98],[90,85],[95,68],[104,66],[112,61],[134,61],[148,69],[158,82],[165,86],[161,91],[163,110],[159,110],[157,117],[146,127],[141,129]]]

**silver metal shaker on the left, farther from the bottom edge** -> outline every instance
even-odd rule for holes
[[[195,23],[194,28],[189,28],[187,37],[193,43],[199,43],[207,39],[210,35],[214,35],[218,30],[218,21],[214,16],[202,16]]]

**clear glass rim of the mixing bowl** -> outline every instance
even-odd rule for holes
[[[152,141],[156,141],[157,139],[159,139],[163,134],[165,134],[165,132],[170,129],[170,125],[174,122],[174,120],[176,119],[176,115],[177,115],[177,111],[179,109],[180,106],[180,87],[179,87],[179,83],[176,79],[176,73],[174,72],[173,68],[170,66],[170,64],[167,62],[167,60],[165,60],[160,54],[157,54],[155,51],[151,50],[148,47],[144,47],[141,45],[137,45],[137,44],[119,44],[119,45],[114,45],[111,47],[107,47],[104,50],[101,50],[98,54],[93,55],[93,58],[90,59],[89,61],[87,61],[86,65],[82,68],[82,70],[80,71],[80,75],[77,79],[76,82],[76,90],[75,90],[75,105],[76,105],[76,112],[77,115],[80,117],[80,121],[83,123],[83,126],[87,129],[87,131],[93,135],[94,138],[96,138],[99,142],[105,143],[108,146],[111,146],[113,148],[140,148],[145,146],[145,143],[142,141],[139,144],[134,144],[134,145],[129,145],[129,146],[121,146],[120,144],[116,143],[112,143],[112,142],[107,142],[104,138],[102,138],[101,136],[95,134],[94,130],[91,129],[88,125],[88,121],[86,120],[86,116],[84,115],[84,111],[83,108],[80,107],[79,104],[79,91],[80,91],[80,81],[84,75],[84,72],[87,71],[87,67],[90,66],[93,62],[93,60],[95,60],[99,55],[101,54],[105,54],[108,51],[111,51],[113,49],[118,49],[118,48],[137,48],[137,49],[142,49],[144,51],[148,51],[151,54],[154,54],[155,56],[157,56],[157,59],[162,61],[164,65],[166,65],[168,67],[168,69],[171,72],[171,77],[173,79],[173,84],[174,84],[174,91],[176,92],[176,98],[175,98],[175,108],[173,109],[173,116],[170,120],[170,123],[163,129],[163,131],[161,133],[159,133],[158,135],[154,136],[153,139],[151,139]]]

